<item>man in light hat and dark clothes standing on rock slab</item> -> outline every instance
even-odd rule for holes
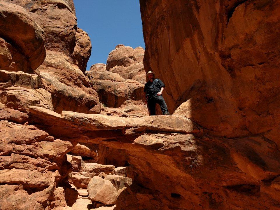
[[[148,104],[150,115],[155,115],[156,103],[160,105],[163,115],[170,115],[162,97],[165,85],[160,79],[155,79],[155,73],[152,71],[148,71],[146,79],[148,82],[144,87],[144,101],[145,104]]]

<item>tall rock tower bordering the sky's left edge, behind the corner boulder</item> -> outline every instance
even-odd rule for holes
[[[42,31],[43,41],[41,42],[44,57],[32,70],[38,67],[36,74],[43,78],[42,87],[52,94],[54,110],[57,112],[75,110],[84,113],[100,113],[97,93],[92,83],[84,75],[86,63],[91,54],[90,38],[85,31],[77,28],[73,1],[27,0],[11,2],[12,4],[6,4],[19,7],[15,5],[18,4],[28,10],[29,13],[22,8],[26,13],[22,16],[33,20],[33,24],[36,24],[35,26],[38,28],[37,31],[39,29]],[[9,22],[5,23],[10,25]],[[33,33],[35,34],[35,32]],[[17,34],[21,34],[21,31],[17,31]],[[3,37],[5,36],[3,34]],[[13,38],[12,35],[9,36],[9,40]],[[31,35],[28,37],[30,40],[36,38]],[[30,40],[29,42],[31,42]],[[38,38],[37,42],[39,41]],[[36,42],[34,42],[35,44]],[[47,50],[45,50],[45,46]],[[32,46],[30,45],[30,47]],[[42,53],[39,54],[38,50],[33,48],[31,50],[35,54],[34,57],[39,60]],[[5,59],[7,60],[7,58]],[[8,61],[4,64],[7,66]],[[4,68],[4,70],[10,69]]]

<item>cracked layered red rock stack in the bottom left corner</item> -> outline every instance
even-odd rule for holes
[[[62,164],[65,154],[73,147],[72,143],[54,139],[31,125],[2,120],[0,127],[0,199],[3,209],[67,206],[64,190],[61,196],[57,195],[59,188],[56,185],[64,176]]]

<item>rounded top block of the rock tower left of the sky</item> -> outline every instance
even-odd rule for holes
[[[30,12],[45,31],[46,49],[70,55],[75,47],[77,22],[69,5],[62,0],[40,0],[31,6]]]

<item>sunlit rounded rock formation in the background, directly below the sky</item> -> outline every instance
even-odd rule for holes
[[[94,64],[87,72],[98,92],[102,113],[122,117],[143,117],[148,109],[143,103],[146,83],[143,67],[144,49],[118,45],[105,64]]]

